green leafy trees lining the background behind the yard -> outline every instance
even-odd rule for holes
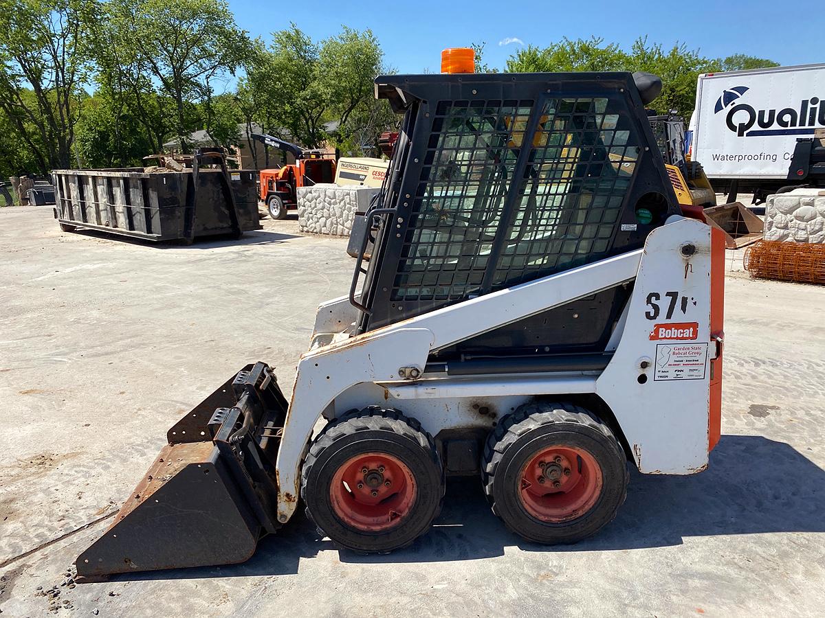
[[[477,70],[497,70],[474,47]],[[699,73],[764,66],[775,63],[592,38],[521,48],[504,69],[646,70],[664,82],[658,105],[689,115]],[[0,177],[139,166],[191,152],[199,130],[219,146],[260,128],[369,153],[397,121],[373,97],[373,78],[392,72],[369,29],[313,40],[293,24],[253,38],[225,0],[0,0]]]

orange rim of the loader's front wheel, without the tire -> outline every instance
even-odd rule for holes
[[[361,531],[398,526],[413,508],[413,472],[398,457],[370,452],[352,457],[332,476],[329,497],[335,514]]]

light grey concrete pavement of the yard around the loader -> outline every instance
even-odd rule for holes
[[[0,610],[48,616],[169,426],[243,364],[289,391],[346,241],[263,221],[239,244],[146,246],[0,209]],[[548,549],[448,486],[432,531],[339,552],[304,517],[246,564],[60,587],[58,615],[819,616],[825,604],[825,289],[726,281],[723,437],[709,470],[631,475],[598,536]],[[38,590],[42,587],[42,590]]]

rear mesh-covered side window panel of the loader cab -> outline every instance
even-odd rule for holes
[[[607,99],[544,104],[493,289],[605,257],[639,155]]]

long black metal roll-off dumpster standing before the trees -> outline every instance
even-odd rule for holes
[[[256,174],[248,170],[55,170],[54,218],[149,241],[194,241],[261,229]],[[227,190],[229,185],[230,191]]]

